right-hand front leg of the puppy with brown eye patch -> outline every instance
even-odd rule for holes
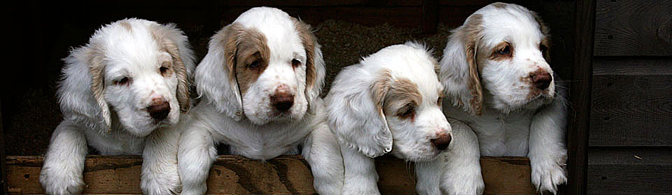
[[[310,164],[317,193],[340,194],[344,178],[343,158],[336,136],[325,122],[310,133],[302,154]]]

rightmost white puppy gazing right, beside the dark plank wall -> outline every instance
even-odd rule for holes
[[[522,6],[485,6],[453,31],[440,79],[446,116],[475,131],[480,153],[529,157],[532,183],[555,194],[567,180],[566,88],[556,87],[560,82],[547,62],[548,31]]]

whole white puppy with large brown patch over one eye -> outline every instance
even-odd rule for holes
[[[206,192],[217,143],[261,160],[303,147],[317,191],[338,192],[337,182],[324,181],[342,179],[338,145],[328,139],[318,96],[324,75],[310,27],[282,10],[252,8],[212,36],[195,73],[202,102],[180,140],[182,194]]]

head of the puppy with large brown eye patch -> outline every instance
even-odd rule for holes
[[[252,8],[215,34],[198,66],[199,94],[235,120],[301,120],[324,80],[310,27],[276,8]]]

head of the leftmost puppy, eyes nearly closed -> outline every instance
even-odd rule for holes
[[[173,24],[139,19],[108,24],[64,59],[58,89],[66,117],[108,132],[111,124],[146,136],[190,108],[193,55]]]

